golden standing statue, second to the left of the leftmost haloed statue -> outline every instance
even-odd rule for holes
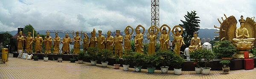
[[[110,50],[111,52],[113,52],[113,46],[111,46],[113,44],[113,40],[114,37],[110,35],[111,31],[108,31],[108,36],[106,37],[106,49]]]

